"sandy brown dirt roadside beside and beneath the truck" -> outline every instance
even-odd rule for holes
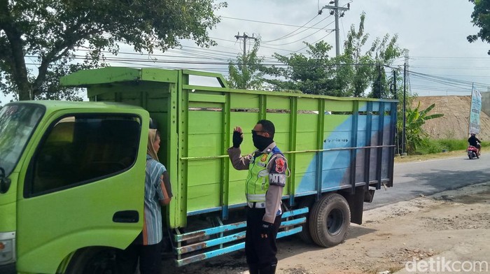
[[[490,182],[367,210],[364,224],[351,224],[336,247],[323,249],[295,237],[279,239],[278,245],[279,274],[426,273],[409,272],[405,264],[431,258],[490,264]],[[235,252],[176,273],[245,274],[244,258],[243,251]],[[463,273],[490,273],[490,267]]]

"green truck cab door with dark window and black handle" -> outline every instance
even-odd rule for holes
[[[125,248],[136,238],[148,113],[134,111],[72,110],[51,115],[39,129],[20,173],[18,271],[55,273],[80,248]]]

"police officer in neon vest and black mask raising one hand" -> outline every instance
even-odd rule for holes
[[[260,120],[252,130],[257,150],[241,157],[243,132],[236,127],[230,161],[237,170],[248,169],[246,178],[246,263],[251,274],[276,272],[276,236],[281,224],[281,196],[286,185],[286,158],[274,143],[274,124]]]

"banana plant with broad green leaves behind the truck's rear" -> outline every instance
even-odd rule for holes
[[[444,116],[443,114],[432,114],[428,113],[435,107],[435,103],[428,106],[425,110],[420,110],[420,102],[417,104],[416,108],[408,107],[405,111],[405,143],[406,151],[408,154],[413,154],[416,152],[418,147],[427,145],[427,137],[425,131],[423,131],[422,126],[427,120],[435,119]],[[402,132],[403,124],[402,120],[397,122],[398,132]]]

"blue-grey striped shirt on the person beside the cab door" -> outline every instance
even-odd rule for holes
[[[170,198],[161,175],[167,168],[150,155],[146,155],[145,206],[143,245],[155,245],[162,241],[162,206],[159,200]]]

